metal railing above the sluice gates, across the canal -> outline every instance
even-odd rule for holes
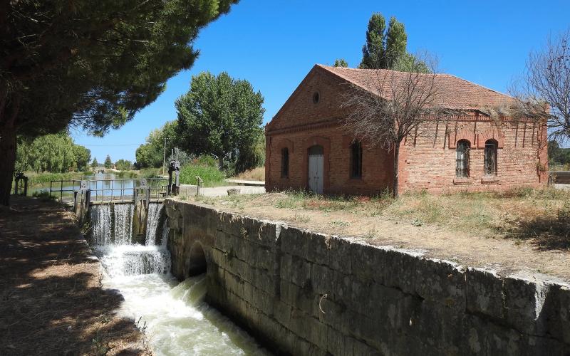
[[[146,184],[142,184],[143,180],[146,181]],[[86,182],[86,189],[90,189],[90,203],[135,201],[135,190],[141,187],[149,190],[151,200],[160,200],[168,194],[168,179],[165,178],[95,179],[84,182]],[[55,187],[54,184],[56,185]],[[55,180],[50,182],[49,193],[50,195],[53,193],[58,194],[60,202],[65,200],[73,201],[73,192],[80,188],[81,180]]]

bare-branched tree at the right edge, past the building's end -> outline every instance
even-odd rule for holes
[[[551,139],[570,138],[570,29],[529,54],[527,68],[509,91],[518,99],[511,116],[546,120]]]

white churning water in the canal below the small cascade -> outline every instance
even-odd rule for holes
[[[105,286],[125,297],[120,313],[146,323],[155,355],[270,355],[203,301],[205,276],[178,283],[170,274],[117,276]]]

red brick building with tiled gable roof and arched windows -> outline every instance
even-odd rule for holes
[[[266,133],[266,189],[378,194],[393,187],[394,155],[356,142],[343,126],[347,84],[366,88],[373,70],[316,65]],[[453,75],[438,74],[442,104],[461,115],[423,124],[429,135],[400,145],[398,192],[481,191],[546,184],[546,127],[488,110],[512,98]]]

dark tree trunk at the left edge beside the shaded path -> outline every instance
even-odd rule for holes
[[[14,165],[16,164],[16,130],[11,125],[0,127],[0,204],[10,204]]]

